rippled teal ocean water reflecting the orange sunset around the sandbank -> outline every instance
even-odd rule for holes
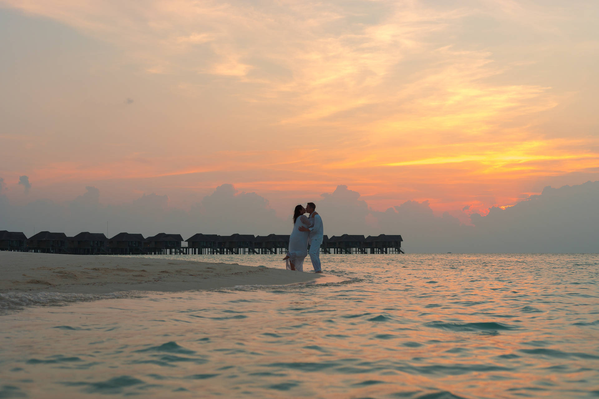
[[[0,294],[0,398],[599,397],[597,254],[322,261],[343,282]]]

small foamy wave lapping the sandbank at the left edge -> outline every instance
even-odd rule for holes
[[[66,293],[0,293],[0,314],[10,310],[21,310],[27,306],[64,306],[74,302],[141,297],[141,291],[122,291],[110,294],[66,294]]]

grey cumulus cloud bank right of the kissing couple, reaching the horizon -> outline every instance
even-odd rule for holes
[[[597,203],[599,181],[546,187],[514,206],[472,214],[467,225],[448,212],[435,215],[428,201],[373,211],[340,185],[323,194],[317,208],[329,236],[401,234],[409,252],[599,252]]]

